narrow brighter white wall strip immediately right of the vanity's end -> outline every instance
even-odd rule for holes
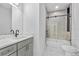
[[[39,4],[34,4],[34,55],[40,55]]]

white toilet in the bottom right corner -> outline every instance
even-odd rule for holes
[[[62,49],[64,51],[65,56],[79,56],[79,49],[73,46],[63,45]]]

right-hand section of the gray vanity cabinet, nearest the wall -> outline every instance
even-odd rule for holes
[[[18,43],[18,56],[33,56],[33,38]]]

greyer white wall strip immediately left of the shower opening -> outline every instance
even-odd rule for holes
[[[40,54],[45,50],[46,41],[46,8],[43,3],[39,5],[39,39],[40,39]]]

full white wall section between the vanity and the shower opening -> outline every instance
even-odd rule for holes
[[[46,9],[44,4],[35,4],[34,55],[41,56],[45,49]]]

